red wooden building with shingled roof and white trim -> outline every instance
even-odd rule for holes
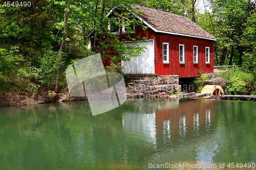
[[[122,63],[126,74],[178,75],[179,78],[188,78],[198,77],[200,69],[204,74],[214,72],[214,36],[185,16],[139,5],[132,8],[138,9],[143,16],[130,11],[130,17],[136,16],[148,26],[146,30],[142,30],[141,26],[130,26],[136,32],[132,36],[147,37],[139,42],[140,46],[146,46],[147,49],[141,56]],[[109,17],[114,15],[112,11]],[[115,11],[122,13],[118,9]],[[126,39],[129,32],[123,26],[113,29],[113,34]]]

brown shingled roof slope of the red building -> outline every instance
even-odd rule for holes
[[[138,9],[144,15],[140,17],[158,31],[216,39],[185,16],[139,5],[134,5],[132,8]]]

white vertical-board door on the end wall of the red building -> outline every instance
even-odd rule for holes
[[[130,61],[122,62],[125,74],[155,74],[154,41],[139,42],[139,46],[145,46],[145,52],[139,57],[129,57]]]

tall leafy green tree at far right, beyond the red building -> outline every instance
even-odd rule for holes
[[[241,39],[245,30],[244,22],[251,15],[253,7],[250,1],[236,0],[211,0],[212,16],[215,18],[213,27],[218,28],[216,34],[218,51],[221,53],[220,65],[223,65],[226,56],[229,56],[229,63],[232,63],[233,55],[239,55],[238,64],[242,63],[242,56],[245,49]]]

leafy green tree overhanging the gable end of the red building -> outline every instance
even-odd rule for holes
[[[86,26],[82,25],[81,28],[87,27],[88,32],[93,29],[93,34],[90,37],[92,39],[92,50],[96,53],[101,53],[104,59],[110,58],[113,63],[129,60],[129,58],[127,58],[128,56],[139,56],[140,52],[143,50],[143,47],[138,46],[139,41],[126,47],[123,42],[135,40],[135,38],[131,36],[131,34],[134,35],[135,31],[127,26],[140,25],[142,29],[146,29],[146,27],[143,26],[142,21],[136,18],[126,18],[125,23],[123,23],[122,18],[129,15],[131,16],[131,13],[127,11],[119,14],[116,11],[126,11],[126,9],[129,9],[138,14],[139,11],[131,8],[131,5],[140,4],[140,2],[137,0],[108,2],[97,0],[94,6],[91,4],[93,3],[88,1],[83,3],[83,5],[87,7],[84,8],[87,11],[87,15],[83,17],[88,22]],[[113,19],[111,15],[107,15],[114,7],[116,8],[113,10],[112,14],[119,17],[120,19],[118,20]],[[120,28],[125,25],[131,34],[127,34],[126,39],[119,39],[118,36],[112,34],[108,27],[109,25],[119,25]],[[138,36],[136,38],[140,39]]]

